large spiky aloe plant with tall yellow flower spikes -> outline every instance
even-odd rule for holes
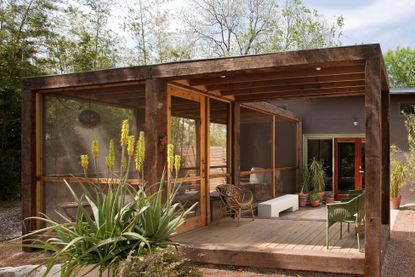
[[[120,137],[120,160],[129,165],[134,157],[135,137],[129,134],[128,120],[122,122]],[[99,142],[94,140],[91,146],[96,170]],[[111,151],[109,156],[113,156]],[[86,172],[88,155],[81,155],[81,166]],[[97,184],[80,183],[81,196],[65,180],[76,203],[74,220],[58,211],[59,221],[46,214],[27,219],[40,220],[47,227],[23,236],[23,240],[36,234],[50,233],[53,236],[25,244],[52,252],[45,261],[48,271],[57,262],[62,262],[63,276],[76,276],[88,265],[93,265],[91,270],[99,268],[102,272],[109,267],[116,268],[128,256],[151,253],[158,247],[175,244],[169,237],[185,222],[185,217],[196,204],[185,210],[180,203],[174,203],[175,189],[163,201],[164,175],[158,190],[148,195],[144,186],[136,188],[128,184],[129,171],[121,169],[119,176],[111,173],[106,187],[99,181]]]

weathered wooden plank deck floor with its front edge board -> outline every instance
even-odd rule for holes
[[[325,222],[306,220],[230,219],[177,235],[173,240],[189,246],[194,262],[264,268],[364,273],[364,253],[357,249],[354,229],[343,224],[330,228],[330,248],[325,246]],[[362,240],[362,249],[364,249]]]

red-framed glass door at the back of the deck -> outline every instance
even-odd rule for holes
[[[365,139],[334,139],[334,194],[347,197],[350,190],[365,187]]]

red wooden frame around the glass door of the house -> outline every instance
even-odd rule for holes
[[[338,144],[339,143],[347,143],[352,142],[355,144],[354,147],[354,179],[355,179],[355,190],[362,189],[362,178],[360,178],[360,167],[364,161],[362,161],[362,143],[366,142],[365,138],[334,138],[334,144],[333,144],[333,153],[334,153],[334,180],[333,180],[333,193],[336,198],[338,198],[338,185],[339,185],[339,150],[338,150]],[[343,194],[341,194],[343,195]]]

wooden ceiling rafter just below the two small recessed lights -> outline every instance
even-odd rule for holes
[[[362,70],[363,71],[363,70]],[[270,76],[273,77],[273,76]],[[364,81],[365,74],[362,73],[349,73],[342,75],[330,75],[330,76],[319,76],[319,77],[304,77],[304,78],[291,78],[291,79],[278,79],[278,80],[266,80],[266,81],[249,81],[246,82],[244,79],[239,83],[225,83],[225,84],[213,84],[206,86],[206,89],[211,90],[233,90],[243,88],[259,88],[268,86],[284,86],[284,85],[306,85],[316,83],[333,83],[341,81]]]

